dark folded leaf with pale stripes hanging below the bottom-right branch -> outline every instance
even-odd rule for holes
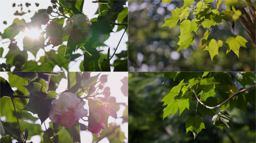
[[[227,126],[229,128],[231,128],[229,121],[232,120],[232,118],[230,117],[230,115],[228,114],[227,111],[220,111],[219,114],[216,114],[213,116],[213,124],[220,128],[221,130],[223,129],[224,126]]]

